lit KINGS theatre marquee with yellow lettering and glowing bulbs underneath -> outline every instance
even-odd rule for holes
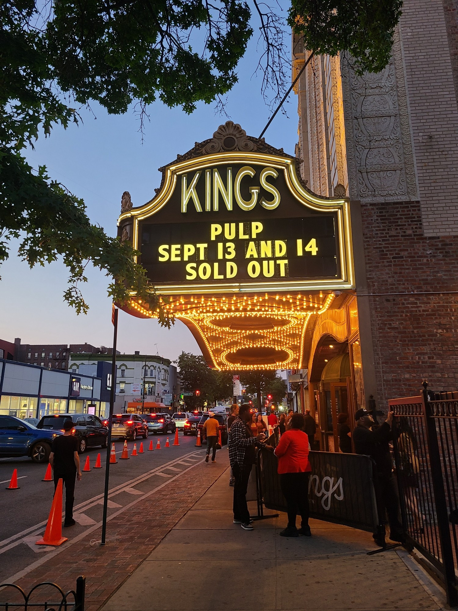
[[[123,194],[118,235],[211,367],[301,367],[310,316],[354,287],[349,203],[311,193],[296,161],[227,122],[160,169],[150,202]],[[154,317],[135,295],[128,311]]]

